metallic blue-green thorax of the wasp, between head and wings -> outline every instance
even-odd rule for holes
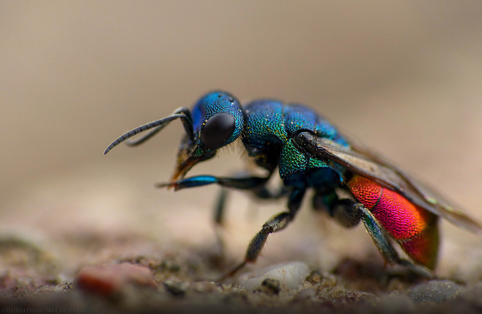
[[[299,104],[262,99],[244,107],[244,120],[243,143],[249,155],[259,157],[278,150],[275,155],[279,159],[273,162],[278,163],[280,177],[286,185],[307,184],[316,187],[317,183],[340,181],[343,169],[332,169],[333,165],[309,157],[295,147],[292,137],[301,131],[309,131],[317,137],[329,138],[348,146],[336,128],[314,110]],[[307,172],[310,176],[307,176]]]

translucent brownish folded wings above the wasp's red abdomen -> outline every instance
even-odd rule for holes
[[[355,145],[353,149],[347,149],[329,139],[317,138],[317,149],[312,152],[322,159],[328,159],[352,173],[368,177],[388,189],[402,194],[414,204],[457,226],[482,234],[481,225],[457,210],[440,194],[362,146]]]

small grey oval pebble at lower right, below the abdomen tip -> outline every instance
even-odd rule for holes
[[[428,283],[415,286],[408,296],[415,303],[418,302],[442,302],[455,298],[464,292],[464,287],[450,280],[431,280]]]

